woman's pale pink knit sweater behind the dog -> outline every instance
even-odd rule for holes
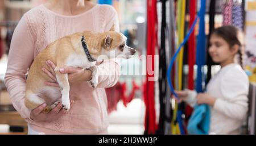
[[[35,56],[56,39],[84,30],[109,31],[113,24],[115,31],[119,31],[117,12],[109,5],[97,4],[74,16],[56,14],[40,5],[23,15],[11,41],[5,83],[15,109],[33,130],[46,134],[102,134],[107,130],[109,121],[104,88],[117,83],[118,62],[105,61],[98,66],[99,74],[104,75],[98,76],[97,89],[88,82],[71,86],[70,98],[75,101],[72,109],[51,122],[30,119],[31,110],[24,106],[25,74]]]

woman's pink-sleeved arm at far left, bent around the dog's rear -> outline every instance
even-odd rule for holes
[[[31,110],[24,105],[26,73],[34,59],[35,37],[24,15],[15,28],[8,56],[5,85],[11,102],[22,118],[30,119]]]

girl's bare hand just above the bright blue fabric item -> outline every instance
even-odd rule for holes
[[[207,104],[209,106],[214,106],[214,103],[216,102],[216,98],[212,97],[212,95],[207,93],[199,93],[197,94],[197,104]]]

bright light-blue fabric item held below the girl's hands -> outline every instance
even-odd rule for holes
[[[210,130],[210,107],[208,105],[196,105],[193,114],[188,121],[188,134],[208,135]]]

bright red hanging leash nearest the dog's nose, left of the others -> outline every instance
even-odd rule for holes
[[[144,102],[146,105],[145,114],[145,134],[155,134],[158,126],[156,125],[155,115],[155,82],[154,82],[154,56],[157,43],[157,12],[156,0],[147,0],[147,74],[146,83],[144,85]],[[152,60],[148,60],[148,56]]]

